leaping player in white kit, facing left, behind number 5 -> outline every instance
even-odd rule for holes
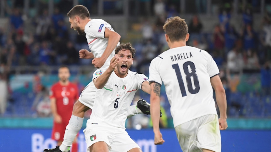
[[[80,50],[79,57],[84,59],[94,58],[92,64],[97,70],[107,69],[111,58],[115,55],[113,50],[119,45],[120,35],[104,20],[91,19],[88,9],[83,5],[73,7],[67,13],[67,16],[69,17],[71,29],[76,30],[78,34],[86,33],[87,43],[91,50],[91,52],[85,49]],[[95,90],[96,87],[91,81],[81,92],[78,101],[74,104],[72,116],[64,134],[63,143],[54,149],[44,149],[44,152],[69,152],[72,141],[82,127],[84,113],[93,107]],[[146,102],[139,103],[145,104],[140,105],[143,108],[148,106]],[[130,106],[127,114],[130,117],[137,113],[150,113],[149,110],[141,110],[139,106]]]

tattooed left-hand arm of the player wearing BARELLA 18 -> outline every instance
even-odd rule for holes
[[[159,83],[151,82],[151,118],[154,132],[154,144],[163,144],[165,141],[162,138],[162,134],[159,128],[160,120],[160,89]]]

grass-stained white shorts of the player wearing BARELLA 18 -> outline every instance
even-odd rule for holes
[[[209,149],[221,152],[218,116],[208,114],[175,127],[183,152]]]

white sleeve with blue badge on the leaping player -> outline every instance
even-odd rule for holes
[[[86,26],[85,33],[91,37],[104,38],[105,28],[105,23],[93,22],[89,26]]]

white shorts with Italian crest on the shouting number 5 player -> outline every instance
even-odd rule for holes
[[[92,144],[99,141],[104,141],[110,152],[126,152],[133,148],[139,148],[123,128],[91,124],[84,129],[84,134],[87,152]]]

